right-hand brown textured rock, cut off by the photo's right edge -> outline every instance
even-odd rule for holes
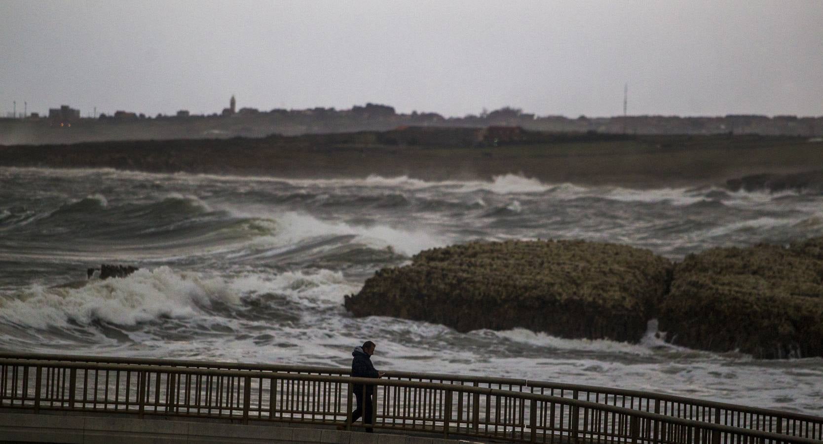
[[[660,307],[660,329],[695,349],[823,356],[823,238],[686,257]]]

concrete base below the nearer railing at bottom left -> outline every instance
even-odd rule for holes
[[[72,444],[440,444],[458,442],[432,437],[388,433],[337,431],[330,428],[285,427],[217,421],[139,419],[122,414],[33,414],[0,410],[0,442]],[[463,441],[467,442],[467,441]]]

